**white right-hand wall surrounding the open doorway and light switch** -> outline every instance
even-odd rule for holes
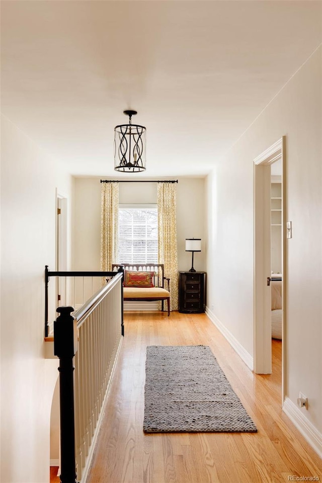
[[[294,405],[299,391],[308,397],[305,417],[321,432],[321,48],[208,177],[208,306],[253,356],[253,159],[283,135],[285,215],[293,227],[285,274],[286,391]]]

